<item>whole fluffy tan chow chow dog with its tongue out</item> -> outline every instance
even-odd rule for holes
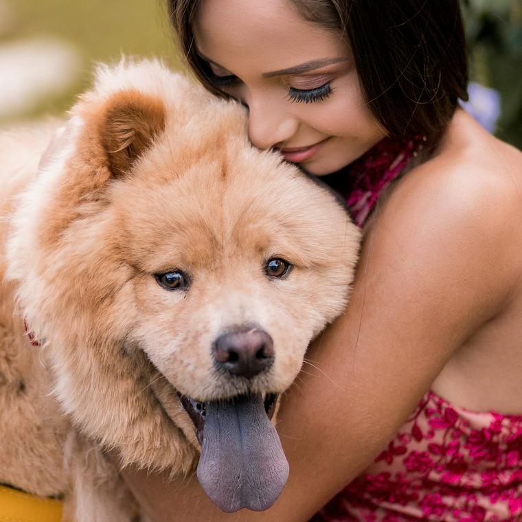
[[[269,417],[345,307],[358,230],[249,144],[246,109],[157,61],[99,67],[67,129],[40,168],[54,126],[0,136],[0,484],[128,521],[111,450],[269,507]]]

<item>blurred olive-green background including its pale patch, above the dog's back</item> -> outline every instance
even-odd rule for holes
[[[8,75],[11,71],[14,82],[16,73],[26,69],[25,83],[33,83],[34,91],[41,89],[41,95],[34,93],[36,99],[27,100],[25,108],[18,108],[17,100],[14,110],[0,107],[0,125],[63,113],[89,86],[99,61],[114,62],[122,54],[161,56],[179,68],[182,60],[172,41],[163,0],[0,0],[0,71],[2,65],[10,67]],[[46,76],[57,65],[43,56],[43,50],[67,63],[56,73],[58,78]],[[14,62],[5,63],[8,56]],[[0,105],[4,75],[0,74]]]

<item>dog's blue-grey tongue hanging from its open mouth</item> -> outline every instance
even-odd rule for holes
[[[279,497],[288,462],[260,396],[205,404],[198,479],[225,512],[266,510]]]

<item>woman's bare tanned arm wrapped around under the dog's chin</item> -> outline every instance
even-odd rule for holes
[[[169,484],[126,470],[152,521],[310,519],[393,438],[453,352],[505,306],[510,256],[498,273],[491,266],[510,249],[502,213],[512,209],[437,161],[409,174],[383,205],[348,310],[310,347],[282,400],[277,429],[291,473],[280,499],[265,512],[225,514],[195,477]]]

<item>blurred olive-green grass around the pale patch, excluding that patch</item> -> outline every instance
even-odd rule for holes
[[[165,0],[4,0],[12,22],[2,41],[57,36],[76,46],[84,74],[64,95],[46,100],[24,117],[63,113],[91,83],[94,65],[127,56],[161,56],[181,67]]]

